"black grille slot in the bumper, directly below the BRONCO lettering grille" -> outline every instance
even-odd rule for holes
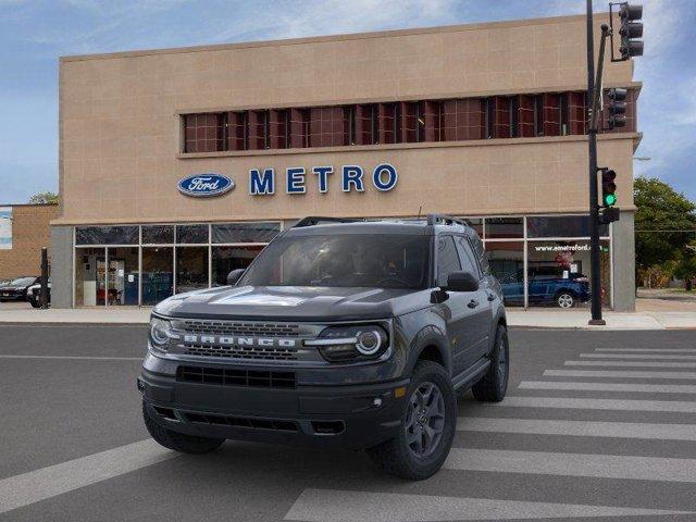
[[[206,366],[178,366],[176,380],[187,383],[260,388],[294,388],[295,372],[272,372]]]

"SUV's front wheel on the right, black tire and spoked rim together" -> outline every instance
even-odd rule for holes
[[[447,371],[432,361],[415,364],[406,397],[399,434],[368,449],[368,455],[385,473],[422,481],[434,475],[449,455],[457,428],[457,397]],[[430,407],[422,408],[421,399]],[[425,413],[418,415],[422,410]],[[427,448],[426,440],[432,443]]]

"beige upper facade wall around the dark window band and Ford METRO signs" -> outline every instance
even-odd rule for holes
[[[597,16],[598,24],[601,16]],[[61,194],[55,223],[570,212],[587,208],[583,137],[177,154],[179,113],[388,99],[485,96],[586,87],[584,17],[569,16],[276,42],[61,60]],[[632,83],[607,63],[605,86]],[[635,135],[602,137],[600,163],[631,204]],[[398,186],[344,194],[334,174],[319,194],[284,194],[288,166],[389,162]],[[276,195],[248,195],[251,167],[276,169]],[[237,183],[220,198],[176,190],[188,174]]]

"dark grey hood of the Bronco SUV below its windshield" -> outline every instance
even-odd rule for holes
[[[154,312],[187,319],[355,321],[393,318],[428,303],[430,290],[227,286],[170,297]]]

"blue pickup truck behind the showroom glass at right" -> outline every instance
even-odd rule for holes
[[[560,273],[559,273],[560,272]],[[529,275],[530,306],[573,308],[589,300],[589,278],[583,274],[568,274],[551,266],[533,268]],[[499,277],[505,302],[524,304],[524,274],[521,270]]]

